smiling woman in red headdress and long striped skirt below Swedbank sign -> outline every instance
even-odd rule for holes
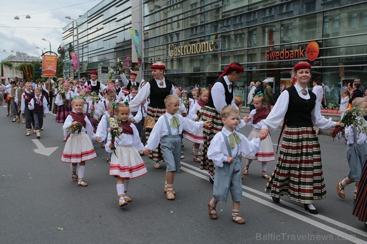
[[[291,200],[304,204],[310,213],[317,214],[313,202],[326,197],[326,187],[320,145],[313,124],[326,129],[340,126],[340,122],[321,115],[316,95],[307,89],[310,68],[307,62],[295,65],[296,83],[280,94],[268,117],[262,121],[260,139],[265,139],[269,129],[276,129],[284,119],[285,130],[278,162],[265,191],[276,203],[279,203],[281,195],[287,195]]]

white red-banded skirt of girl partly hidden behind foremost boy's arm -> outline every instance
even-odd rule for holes
[[[260,130],[253,128],[250,134],[248,135],[248,141],[251,141],[254,138],[259,138]],[[266,137],[266,139],[261,141],[261,148],[255,154],[255,156],[242,155],[244,158],[257,160],[259,162],[270,162],[275,160],[274,157],[274,149],[271,143],[270,134]]]

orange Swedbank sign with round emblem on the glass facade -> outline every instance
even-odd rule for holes
[[[319,47],[318,47],[317,42],[312,41],[308,43],[306,49],[304,49],[303,47],[300,47],[297,50],[283,49],[281,51],[274,51],[274,52],[267,50],[265,52],[265,56],[266,56],[266,60],[301,58],[301,57],[305,57],[305,51],[306,51],[306,57],[308,60],[310,61],[315,60],[319,54]]]

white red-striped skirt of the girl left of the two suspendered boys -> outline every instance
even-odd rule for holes
[[[110,175],[133,179],[147,173],[145,163],[135,147],[117,146],[115,152],[111,154]]]

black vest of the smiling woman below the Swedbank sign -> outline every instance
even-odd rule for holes
[[[312,127],[311,112],[316,104],[316,95],[308,90],[310,98],[301,98],[294,86],[287,88],[287,91],[289,93],[289,103],[286,113],[286,125]]]

